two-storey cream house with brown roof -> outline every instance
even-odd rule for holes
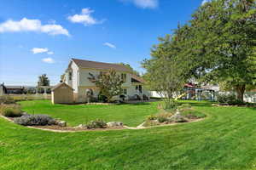
[[[90,74],[97,76],[101,72],[109,71],[110,69],[115,70],[124,80],[122,91],[125,99],[148,99],[149,93],[144,87],[143,78],[133,75],[131,69],[125,65],[71,59],[62,81],[73,88],[74,102],[83,103],[87,101],[89,94],[96,99],[99,94],[99,89],[96,88],[95,83],[90,82],[88,79]],[[115,96],[115,98],[119,99],[119,96]]]

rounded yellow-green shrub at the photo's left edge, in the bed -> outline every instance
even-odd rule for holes
[[[20,105],[0,105],[0,113],[1,115],[8,117],[22,116]]]

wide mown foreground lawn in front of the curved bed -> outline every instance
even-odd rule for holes
[[[256,109],[193,105],[205,120],[141,130],[53,133],[0,118],[0,169],[255,169]]]

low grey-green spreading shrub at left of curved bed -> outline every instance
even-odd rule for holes
[[[55,125],[56,121],[47,115],[26,115],[15,118],[15,123],[23,126],[46,126]]]

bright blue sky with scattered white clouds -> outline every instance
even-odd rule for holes
[[[143,71],[157,37],[183,24],[202,0],[1,0],[0,82],[59,82],[71,58]]]

